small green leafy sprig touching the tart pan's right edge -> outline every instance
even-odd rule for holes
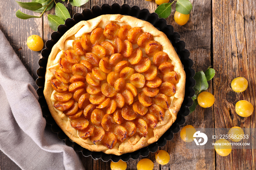
[[[215,75],[215,70],[210,67],[203,72],[196,72],[195,76],[193,77],[196,80],[196,85],[193,87],[195,90],[195,95],[192,97],[193,99],[193,105],[189,107],[190,113],[195,111],[196,106],[198,105],[197,103],[197,96],[203,92],[204,90],[207,90],[209,85],[207,81],[210,81]]]

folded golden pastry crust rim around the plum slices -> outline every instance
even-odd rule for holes
[[[143,30],[143,32],[149,32],[152,34],[153,40],[162,45],[162,51],[167,53],[169,58],[172,60],[171,63],[174,65],[174,71],[177,73],[179,80],[179,82],[175,85],[176,93],[174,96],[170,97],[171,105],[169,110],[166,110],[165,112],[164,120],[159,121],[156,128],[148,128],[146,138],[140,137],[139,135],[134,135],[128,137],[126,140],[124,140],[124,142],[117,141],[116,145],[111,149],[105,147],[101,142],[93,144],[89,138],[83,139],[79,137],[78,130],[71,127],[68,116],[62,111],[59,111],[53,107],[53,103],[56,101],[53,95],[56,92],[51,86],[51,80],[54,78],[54,71],[59,67],[59,60],[61,56],[64,55],[64,51],[72,47],[74,40],[81,38],[84,33],[93,31],[96,27],[104,28],[110,22],[114,22],[120,26],[128,24],[131,27],[139,27]],[[127,152],[136,151],[156,142],[170,128],[177,118],[177,113],[184,99],[185,78],[182,63],[169,39],[163,32],[159,31],[152,24],[137,18],[133,18],[132,16],[124,16],[119,14],[101,15],[88,21],[79,22],[74,27],[69,29],[53,46],[46,66],[44,96],[53,119],[71,140],[91,151],[102,151],[106,154],[121,155]]]

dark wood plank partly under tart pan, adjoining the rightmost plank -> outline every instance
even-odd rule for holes
[[[186,43],[186,49],[193,60],[193,69],[196,72],[205,71],[211,66],[211,1],[191,0],[193,9],[187,24],[179,26],[174,21],[175,5],[172,14],[167,18],[167,23],[179,32],[181,40]],[[212,93],[212,82],[209,81],[208,92]],[[214,128],[213,107],[196,110],[186,117],[184,125],[193,125],[195,128]],[[184,125],[181,126],[184,127]],[[174,134],[173,140],[163,148],[170,153],[170,169],[215,169],[214,150],[199,150],[186,148],[186,143],[181,140],[180,133]]]

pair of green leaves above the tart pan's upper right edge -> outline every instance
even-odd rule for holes
[[[192,4],[189,0],[174,0],[172,3],[161,4],[155,9],[155,13],[159,18],[167,18],[172,13],[172,4],[176,2],[176,11],[185,15],[189,14],[192,10]]]

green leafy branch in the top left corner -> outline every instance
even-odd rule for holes
[[[61,0],[65,1],[65,0]],[[88,2],[88,0],[67,0],[72,6],[80,7],[81,5]],[[57,28],[60,24],[65,24],[67,18],[71,18],[68,12],[68,9],[62,3],[56,3],[55,0],[32,0],[31,2],[20,2],[16,1],[18,5],[24,9],[41,13],[40,16],[27,15],[26,13],[18,10],[16,16],[20,19],[29,19],[29,18],[41,18],[46,11],[49,11],[54,7],[55,4],[55,15],[47,14],[49,26],[57,31]]]

